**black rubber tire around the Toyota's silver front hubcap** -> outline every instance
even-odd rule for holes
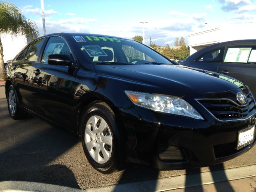
[[[112,152],[109,160],[103,164],[100,164],[94,160],[86,146],[86,123],[92,116],[100,116],[103,118],[103,120],[105,120],[107,123],[112,135]],[[118,123],[116,115],[111,108],[104,102],[93,104],[83,114],[81,126],[84,153],[92,167],[104,174],[110,174],[112,172],[122,170],[124,168],[124,138],[122,136],[122,131],[120,130],[120,124]]]

